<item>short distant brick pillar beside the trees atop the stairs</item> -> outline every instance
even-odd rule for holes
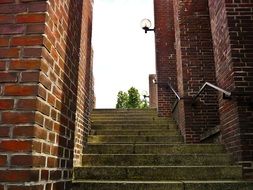
[[[149,75],[149,107],[157,108],[157,84],[156,75]]]

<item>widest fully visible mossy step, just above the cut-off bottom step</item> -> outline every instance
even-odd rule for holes
[[[239,180],[240,166],[86,166],[74,168],[76,180]]]

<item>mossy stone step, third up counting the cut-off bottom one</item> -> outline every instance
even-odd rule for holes
[[[232,165],[228,154],[86,154],[83,166]]]

